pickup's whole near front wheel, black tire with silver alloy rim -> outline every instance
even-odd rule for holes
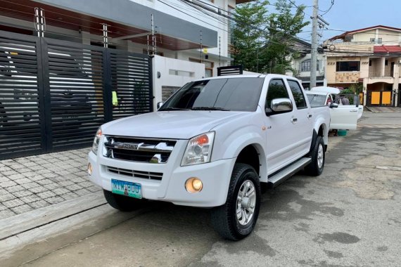
[[[226,203],[212,209],[213,227],[224,238],[241,240],[255,228],[259,209],[259,176],[248,164],[235,164]]]

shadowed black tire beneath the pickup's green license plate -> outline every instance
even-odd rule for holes
[[[103,190],[103,194],[108,204],[119,211],[134,211],[144,207],[147,202],[146,200],[139,200],[134,197],[113,194],[108,190]]]

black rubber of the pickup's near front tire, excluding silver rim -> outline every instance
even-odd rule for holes
[[[236,215],[238,192],[243,188],[243,184],[250,181],[255,189],[255,208],[253,216],[245,225],[241,225]],[[247,183],[248,184],[248,183]],[[245,188],[243,188],[245,189]],[[248,198],[250,199],[250,198]],[[241,206],[242,207],[242,206]],[[241,240],[252,233],[259,216],[260,209],[260,181],[259,176],[253,167],[248,164],[237,163],[231,174],[229,192],[226,203],[220,207],[215,207],[211,211],[212,225],[224,238],[228,240]],[[241,213],[242,216],[242,213]]]

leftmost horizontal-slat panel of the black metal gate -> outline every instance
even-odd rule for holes
[[[0,159],[43,152],[38,39],[0,36]]]

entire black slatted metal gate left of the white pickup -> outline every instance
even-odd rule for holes
[[[0,36],[0,159],[84,148],[101,124],[153,110],[147,55]]]

